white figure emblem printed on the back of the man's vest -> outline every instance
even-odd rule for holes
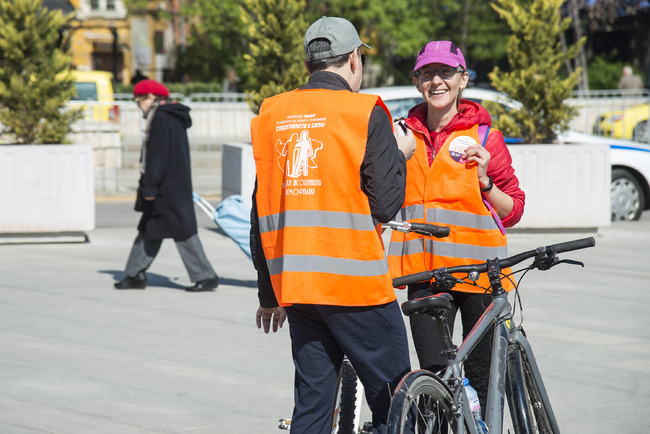
[[[286,173],[289,178],[298,178],[308,176],[309,169],[318,167],[316,164],[316,153],[323,149],[323,142],[314,140],[309,137],[309,131],[303,130],[298,134],[293,133],[286,143],[278,140],[275,149],[280,153],[278,157],[278,166]],[[282,160],[286,161],[284,167]],[[285,170],[286,169],[286,170]]]

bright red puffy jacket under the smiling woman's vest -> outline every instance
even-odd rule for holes
[[[480,104],[468,100],[461,100],[458,114],[440,132],[429,131],[426,125],[427,104],[422,103],[409,111],[406,124],[413,130],[419,131],[424,136],[429,156],[429,165],[433,163],[434,152],[440,151],[449,135],[459,129],[466,129],[476,124],[492,126],[490,114]],[[500,131],[491,131],[488,136],[485,149],[490,152],[490,163],[488,164],[488,176],[494,181],[499,190],[503,191],[514,201],[514,207],[510,214],[501,219],[507,228],[514,226],[521,220],[524,213],[526,195],[519,188],[519,180],[515,176],[515,169],[512,167],[512,157],[503,141],[503,134]]]

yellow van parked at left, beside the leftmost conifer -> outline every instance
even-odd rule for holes
[[[119,106],[111,104],[114,101],[113,74],[107,71],[78,71],[74,70],[72,77],[77,94],[72,98],[72,106],[81,105],[87,112],[87,117],[93,121],[117,122]],[[85,101],[87,104],[77,104]]]

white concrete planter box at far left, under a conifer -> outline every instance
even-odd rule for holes
[[[95,228],[93,148],[0,146],[0,237],[74,235]]]

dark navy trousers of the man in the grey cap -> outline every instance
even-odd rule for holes
[[[368,307],[295,304],[286,311],[296,368],[291,432],[330,433],[344,355],[364,385],[373,433],[385,432],[392,393],[410,371],[397,302]]]

